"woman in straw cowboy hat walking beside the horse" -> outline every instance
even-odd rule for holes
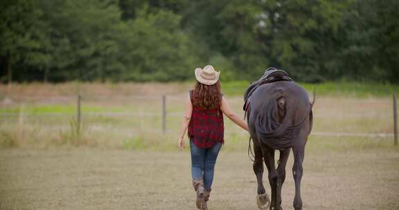
[[[220,72],[212,66],[195,69],[197,84],[190,90],[186,111],[181,122],[179,149],[185,148],[184,134],[188,128],[191,152],[191,175],[197,192],[197,208],[208,209],[216,158],[224,142],[223,115],[248,131],[247,123],[231,111],[219,82]]]

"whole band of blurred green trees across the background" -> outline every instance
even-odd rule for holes
[[[399,82],[397,0],[2,0],[0,82]]]

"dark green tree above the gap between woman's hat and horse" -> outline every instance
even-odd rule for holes
[[[184,16],[184,27],[196,42],[207,45],[208,59],[233,78],[259,77],[268,65],[261,1],[195,1]]]

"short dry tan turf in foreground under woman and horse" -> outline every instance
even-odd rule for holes
[[[303,209],[398,209],[398,162],[395,149],[308,151]],[[195,209],[187,151],[12,149],[0,163],[0,209]],[[292,154],[283,209],[292,209],[291,167]],[[255,198],[246,153],[222,150],[211,209],[256,209]]]

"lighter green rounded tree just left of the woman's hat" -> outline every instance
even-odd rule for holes
[[[138,10],[128,21],[124,61],[128,65],[124,80],[170,81],[187,79],[199,64],[195,45],[180,29],[181,17],[173,12]]]

